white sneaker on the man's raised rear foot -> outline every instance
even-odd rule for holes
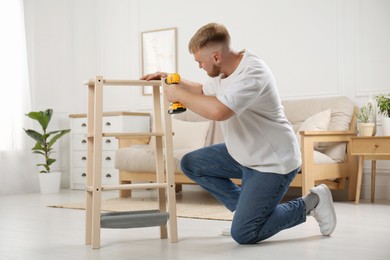
[[[336,211],[333,206],[332,194],[325,184],[318,185],[310,190],[319,197],[318,205],[310,211],[320,225],[322,235],[330,236],[336,228]]]

